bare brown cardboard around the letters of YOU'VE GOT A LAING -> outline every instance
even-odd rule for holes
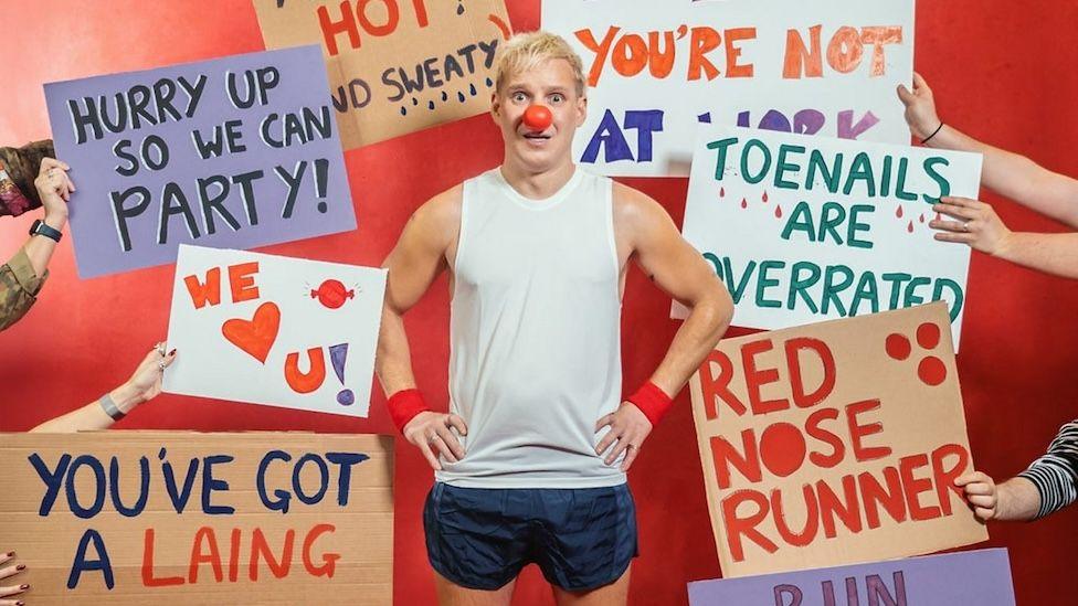
[[[162,451],[163,449],[163,451]],[[263,504],[256,478],[267,453],[281,450],[292,460],[272,460],[266,467],[266,493],[292,488],[294,466],[306,454],[327,460],[327,453],[358,453],[369,458],[350,466],[350,485],[345,507],[339,506],[341,466],[327,464],[327,490],[317,504],[304,504],[293,495],[287,513]],[[145,510],[124,517],[105,491],[99,513],[81,519],[72,513],[65,489],[61,488],[47,515],[40,514],[45,483],[30,461],[36,454],[49,470],[55,469],[64,454],[89,455],[102,461],[106,482],[110,482],[110,460],[116,457],[120,479],[119,497],[134,507],[139,495],[141,457],[149,471]],[[163,458],[162,458],[163,455]],[[210,492],[212,506],[229,506],[233,514],[205,514],[202,507],[205,457],[228,455],[230,463],[212,464],[213,480],[228,482],[229,490]],[[178,492],[188,464],[200,459],[191,497],[182,513],[177,513],[163,480],[163,464],[172,466]],[[84,459],[89,460],[89,459]],[[212,459],[211,459],[212,460]],[[338,457],[339,460],[339,457]],[[307,497],[321,486],[317,463],[303,464],[299,481]],[[75,471],[78,507],[91,509],[96,499],[93,465],[81,464]],[[70,471],[68,471],[70,474]],[[315,435],[302,433],[195,434],[187,432],[98,432],[75,435],[0,434],[0,550],[14,551],[27,571],[12,581],[30,584],[20,596],[28,604],[389,604],[392,602],[393,572],[393,442],[387,436]],[[65,480],[66,481],[66,480]],[[109,483],[110,486],[110,483]],[[331,532],[311,535],[309,564],[319,571],[324,554],[339,554],[332,576],[316,576],[304,562],[304,543],[310,530],[331,524]],[[191,583],[192,545],[200,528],[212,529],[221,561],[222,580],[215,578],[212,549],[208,541],[200,551],[205,556]],[[76,549],[88,530],[99,533],[115,575],[112,591],[102,571],[84,571],[74,589],[67,588]],[[147,549],[147,529],[152,529],[152,549]],[[231,538],[240,531],[236,580],[231,576]],[[283,557],[289,530],[294,531],[290,566],[282,578],[260,555],[257,581],[251,580],[251,552],[255,529],[261,529],[272,557]],[[325,530],[325,529],[323,529]],[[203,539],[209,531],[203,531]],[[152,577],[179,577],[179,584],[147,586],[144,581],[147,552],[151,553]],[[198,555],[198,552],[195,553]],[[87,560],[97,560],[87,550]],[[331,559],[331,557],[330,557]],[[283,562],[281,562],[283,564]],[[328,570],[320,571],[327,573]]]

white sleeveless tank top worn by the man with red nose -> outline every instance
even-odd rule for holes
[[[621,404],[621,294],[612,182],[577,168],[546,200],[498,169],[464,183],[450,319],[450,410],[467,454],[438,481],[466,488],[625,482],[595,422]]]

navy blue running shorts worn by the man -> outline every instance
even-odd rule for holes
[[[637,555],[628,485],[610,488],[458,488],[435,482],[423,509],[426,552],[442,576],[494,591],[535,562],[552,585],[609,585]]]

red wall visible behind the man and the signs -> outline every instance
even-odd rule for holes
[[[514,29],[539,25],[539,0],[507,3]],[[264,47],[249,0],[2,0],[0,20],[0,145],[50,137],[41,86],[45,82]],[[1078,3],[1069,0],[923,0],[918,3],[917,68],[932,84],[941,116],[950,124],[1078,176],[1078,45],[1067,23],[1078,23]],[[480,116],[349,151],[345,158],[358,232],[265,252],[379,265],[412,210],[498,164],[501,141]],[[687,180],[627,182],[656,198],[680,224]],[[1012,228],[1061,228],[1008,201],[991,194],[984,199],[998,203]],[[0,222],[0,256],[14,253],[36,216]],[[171,266],[83,281],[65,241],[50,267],[52,276],[36,307],[0,333],[3,430],[28,429],[113,389],[167,330]],[[442,278],[406,320],[420,386],[442,407],[447,302]],[[623,318],[623,326],[634,329],[624,342],[628,389],[651,373],[677,328],[667,319],[668,306],[668,297],[634,270]],[[959,371],[975,460],[996,478],[1021,470],[1044,451],[1061,423],[1076,416],[1076,309],[1078,283],[974,254]],[[348,419],[162,395],[119,427],[390,433],[380,391],[371,411],[369,419]],[[429,604],[434,587],[420,512],[432,474],[418,450],[398,444],[395,603]],[[687,392],[653,433],[631,483],[642,529],[633,603],[685,603],[686,582],[719,576]],[[1072,563],[1078,511],[1035,524],[993,524],[990,532],[992,540],[984,546],[1011,550],[1019,604],[1074,604],[1067,594],[1078,593]],[[552,603],[540,581],[529,570],[516,603]]]

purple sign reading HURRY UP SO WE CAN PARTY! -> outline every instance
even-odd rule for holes
[[[45,85],[83,278],[356,228],[317,46]]]

